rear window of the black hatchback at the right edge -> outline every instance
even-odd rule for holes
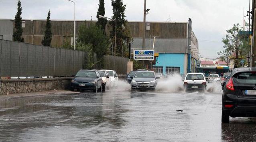
[[[233,76],[234,81],[242,84],[255,84],[256,72],[238,73]]]

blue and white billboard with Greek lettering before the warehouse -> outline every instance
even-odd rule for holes
[[[152,49],[135,49],[134,60],[150,60],[154,61],[154,50]]]

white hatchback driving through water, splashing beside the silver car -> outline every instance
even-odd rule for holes
[[[184,90],[206,90],[206,79],[203,73],[188,73],[184,79]]]

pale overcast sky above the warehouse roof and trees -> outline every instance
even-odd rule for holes
[[[14,18],[18,0],[0,0],[0,18]],[[20,0],[23,19],[73,19],[73,3],[67,0]],[[74,0],[77,20],[96,20],[99,0]],[[143,20],[144,0],[123,0],[126,19]],[[112,16],[111,0],[105,0],[106,14]],[[199,41],[202,57],[216,58],[223,50],[221,43],[226,30],[234,23],[243,25],[243,12],[249,10],[249,0],[147,0],[150,13],[146,21],[187,22],[192,19],[192,30]],[[248,21],[248,18],[246,18]]]

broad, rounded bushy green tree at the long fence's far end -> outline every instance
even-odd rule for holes
[[[83,24],[79,27],[78,36],[77,43],[81,46],[78,47],[78,50],[86,50],[93,59],[95,58],[95,53],[97,55],[97,59],[96,61],[93,61],[93,64],[97,63],[97,68],[103,68],[103,56],[109,53],[110,46],[109,40],[103,30],[93,23],[89,26]]]

